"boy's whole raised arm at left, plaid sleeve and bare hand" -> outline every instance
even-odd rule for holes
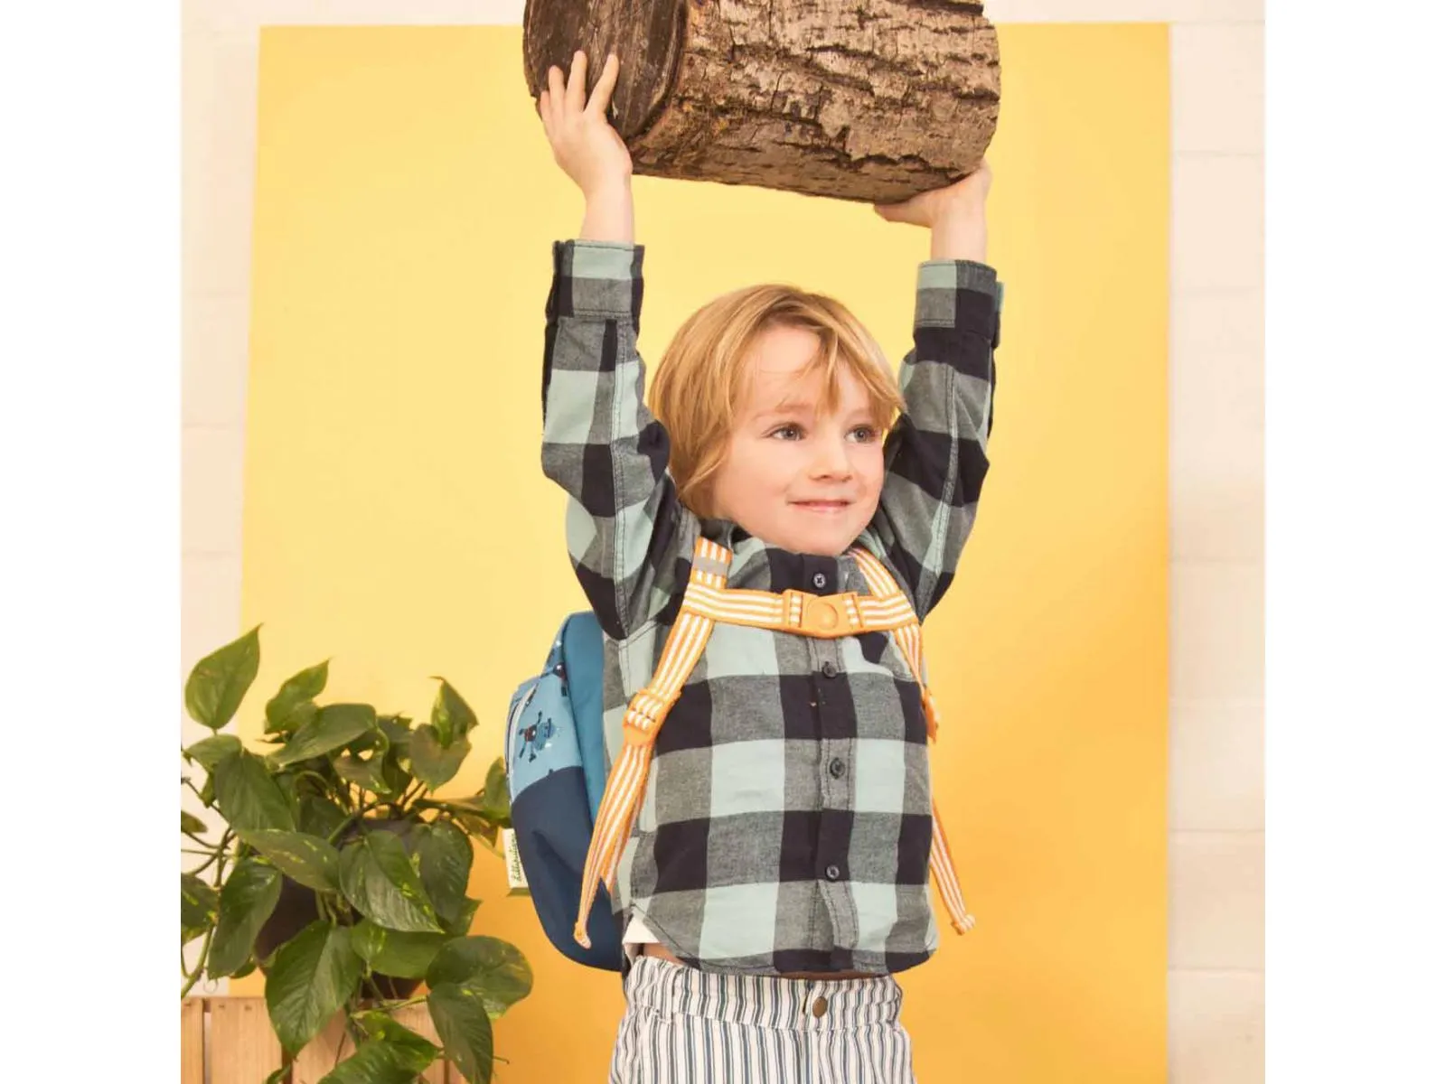
[[[567,85],[552,68],[538,100],[552,156],[586,201],[578,238],[552,246],[542,470],[571,496],[567,548],[589,604],[623,639],[672,598],[683,512],[667,476],[668,434],[642,397],[632,159],[606,116],[617,59],[584,103],[586,75],[577,53]]]

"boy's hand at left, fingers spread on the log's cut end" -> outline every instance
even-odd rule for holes
[[[622,136],[607,121],[607,106],[617,85],[617,56],[609,55],[593,97],[584,104],[587,55],[573,53],[573,71],[562,85],[562,69],[548,68],[548,88],[538,97],[538,114],[552,145],[552,159],[589,199],[626,186],[632,178],[632,155]]]

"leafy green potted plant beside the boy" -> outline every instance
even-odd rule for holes
[[[201,659],[187,711],[215,731],[182,749],[204,780],[189,786],[224,821],[221,837],[181,814],[181,944],[204,938],[187,973],[260,968],[266,1009],[288,1059],[338,1012],[356,1054],[333,1084],[411,1081],[438,1057],[492,1080],[492,1022],[532,989],[506,941],[470,934],[473,840],[500,853],[510,827],[503,765],[473,796],[440,798],[471,749],[477,717],[445,681],[431,718],[380,715],[370,704],[318,704],[327,662],[301,671],[266,704],[265,754],[220,733],[260,665],[260,626]],[[427,993],[412,994],[427,981]],[[441,1046],[392,1013],[427,1002]],[[283,1080],[286,1068],[272,1075]]]

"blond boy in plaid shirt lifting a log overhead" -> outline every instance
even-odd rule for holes
[[[931,231],[898,382],[842,305],[756,286],[684,324],[649,409],[619,64],[591,100],[586,65],[538,101],[586,199],[554,246],[542,463],[606,633],[609,792],[635,788],[594,828],[594,848],[616,837],[602,877],[625,924],[612,1080],[902,1084],[894,974],[938,945],[931,870],[954,928],[973,922],[930,793],[914,614],[949,588],[988,468],[989,169],[876,208]],[[698,598],[735,620],[700,623]],[[769,626],[775,601],[768,620],[813,632]],[[892,626],[865,620],[891,606]]]

